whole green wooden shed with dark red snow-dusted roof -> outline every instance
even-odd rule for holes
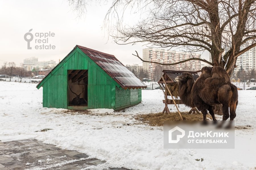
[[[43,107],[72,110],[124,109],[141,102],[146,85],[115,56],[75,48],[36,86]]]

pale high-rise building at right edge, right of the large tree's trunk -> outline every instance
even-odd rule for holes
[[[244,47],[241,47],[241,50]],[[234,69],[235,72],[243,69],[256,69],[256,47],[251,48],[247,52],[243,53],[242,55],[238,56],[236,60],[236,68]]]

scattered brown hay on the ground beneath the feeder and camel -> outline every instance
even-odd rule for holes
[[[187,112],[181,112],[181,115],[186,120],[203,120],[203,114],[187,114]],[[207,117],[212,119],[210,114]],[[180,120],[178,112],[171,112],[170,114],[162,113],[150,113],[150,114],[140,114],[135,117],[136,120],[142,121],[144,124],[149,124],[150,126],[163,126],[165,120]]]

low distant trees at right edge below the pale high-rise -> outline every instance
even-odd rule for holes
[[[243,69],[243,67],[241,67],[241,69],[238,70],[238,72],[234,72],[231,76],[231,79],[235,78],[235,79],[240,79],[240,81],[247,81],[247,80],[251,80],[251,79],[256,79],[256,71],[254,69]]]

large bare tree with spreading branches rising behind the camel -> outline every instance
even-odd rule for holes
[[[70,2],[77,4],[78,11],[86,6],[86,0]],[[122,24],[127,11],[141,11],[145,17],[132,26]],[[238,56],[256,46],[255,11],[255,0],[114,0],[105,26],[117,44],[144,42],[187,52],[207,50],[212,63],[198,58],[181,62],[201,60],[225,68],[231,76]]]

